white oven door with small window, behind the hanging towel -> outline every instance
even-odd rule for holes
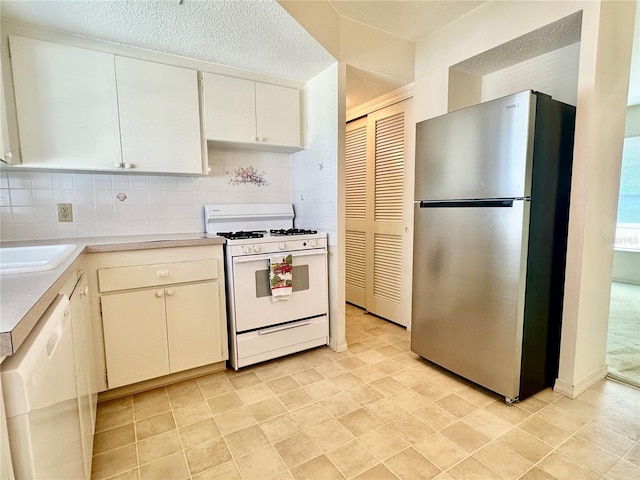
[[[327,251],[289,252],[292,293],[274,302],[269,284],[270,255],[233,258],[233,311],[237,333],[327,314]]]

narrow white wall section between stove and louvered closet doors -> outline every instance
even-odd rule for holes
[[[342,351],[347,344],[343,266],[338,255],[338,132],[344,125],[339,71],[336,63],[307,82],[307,148],[291,156],[291,182],[296,227],[326,231],[329,237],[331,347]]]

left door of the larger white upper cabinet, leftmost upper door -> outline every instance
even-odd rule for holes
[[[10,44],[22,163],[119,165],[113,55],[15,36]]]

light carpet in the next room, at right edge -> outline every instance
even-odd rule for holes
[[[640,387],[640,285],[611,284],[609,376]]]

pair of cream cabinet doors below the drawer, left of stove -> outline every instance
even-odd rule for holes
[[[217,282],[103,296],[109,388],[225,360],[219,297]]]

